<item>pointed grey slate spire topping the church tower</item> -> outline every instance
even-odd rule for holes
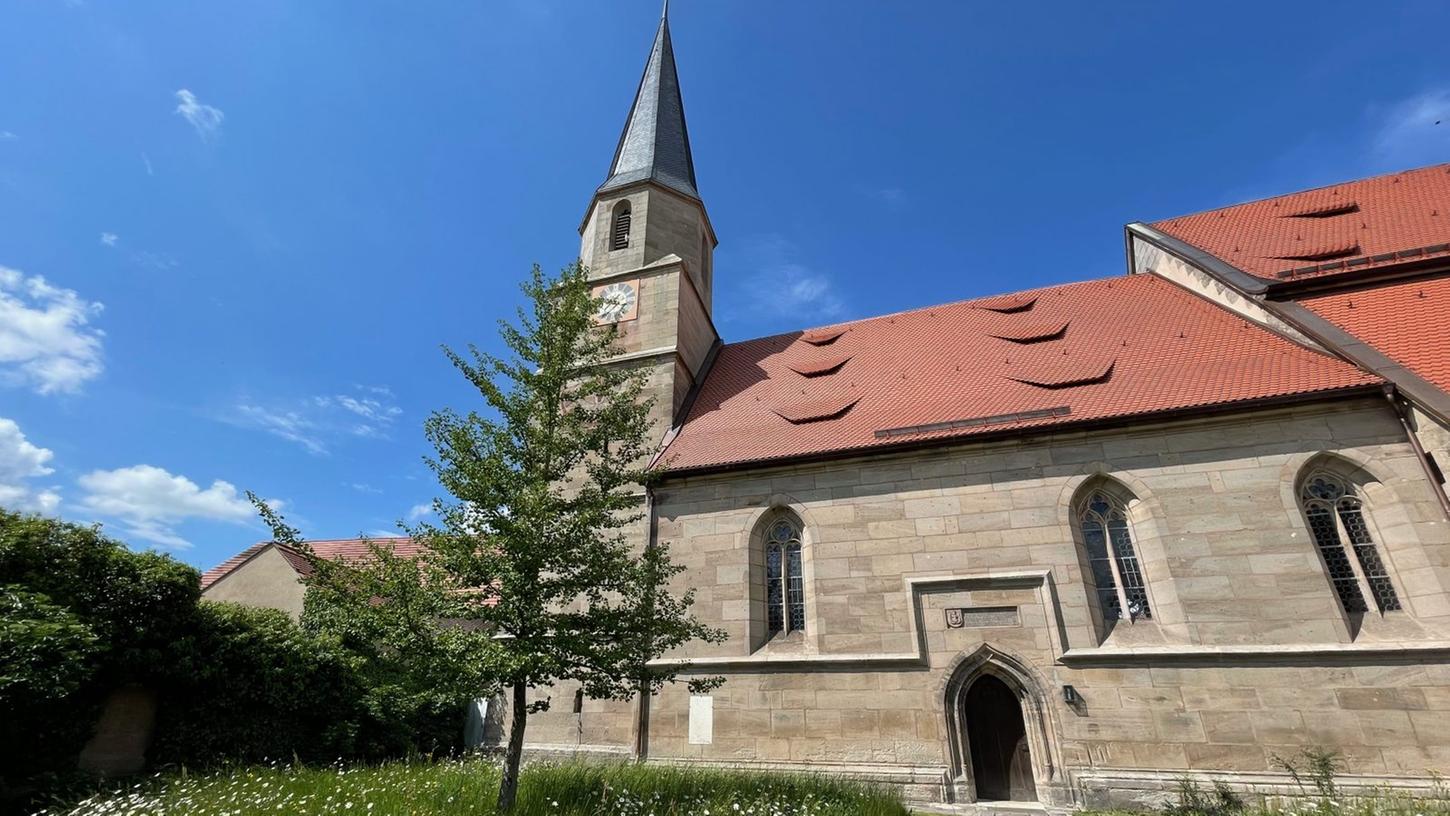
[[[680,77],[674,70],[674,48],[670,45],[668,0],[660,13],[660,30],[654,35],[650,59],[644,64],[644,77],[639,78],[639,90],[629,107],[629,119],[619,135],[609,178],[599,191],[647,178],[692,199],[700,197],[695,188],[695,159],[690,158]]]

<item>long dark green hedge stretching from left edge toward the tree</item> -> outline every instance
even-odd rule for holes
[[[99,528],[0,509],[0,812],[68,784],[128,684],[160,701],[152,765],[384,758],[463,735],[461,704],[334,633],[200,600],[194,568]]]

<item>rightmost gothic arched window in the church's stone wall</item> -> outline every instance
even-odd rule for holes
[[[1367,612],[1364,587],[1380,612],[1399,609],[1399,596],[1395,594],[1385,561],[1369,535],[1363,503],[1353,486],[1334,474],[1318,471],[1304,481],[1299,503],[1344,612]],[[1346,549],[1354,551],[1353,559]]]

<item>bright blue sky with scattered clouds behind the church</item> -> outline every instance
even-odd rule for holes
[[[209,567],[393,530],[654,0],[0,7],[0,503]],[[1450,4],[676,0],[726,341],[1124,271],[1122,225],[1450,159]],[[1436,120],[1444,120],[1436,125]]]

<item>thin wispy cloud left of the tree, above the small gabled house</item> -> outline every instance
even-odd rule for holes
[[[393,422],[403,413],[393,401],[393,391],[380,386],[355,386],[354,390],[364,396],[325,394],[281,406],[244,400],[222,419],[265,430],[319,455],[344,436],[387,439]]]

